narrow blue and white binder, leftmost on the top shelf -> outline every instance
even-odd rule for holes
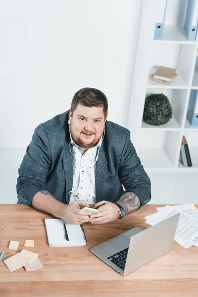
[[[167,0],[158,0],[154,39],[161,39],[164,29]]]

